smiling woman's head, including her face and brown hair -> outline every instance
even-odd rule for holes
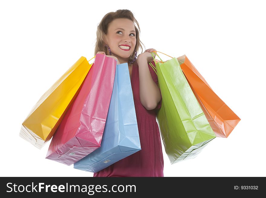
[[[116,54],[117,56],[122,55],[122,57],[117,57],[118,60],[120,61],[119,58],[125,59],[128,55],[129,60],[133,60],[135,58],[135,52],[138,53],[139,48],[141,49],[141,53],[143,51],[143,43],[139,38],[139,29],[138,21],[135,19],[131,11],[117,10],[116,12],[105,14],[97,27],[97,39],[94,54],[96,55],[97,52],[105,52],[106,54],[109,54],[108,48],[106,47],[107,43],[109,44],[109,48],[112,49],[113,55],[120,50],[119,45],[125,45],[129,46],[130,49],[127,54]],[[125,40],[119,40],[124,39],[124,36],[127,36]],[[126,61],[126,59],[124,61]],[[124,63],[124,61],[121,59],[120,63]]]

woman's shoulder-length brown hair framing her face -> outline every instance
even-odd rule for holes
[[[105,46],[104,38],[105,38],[105,35],[107,34],[109,23],[111,23],[113,20],[118,19],[118,18],[129,19],[134,23],[134,26],[135,26],[136,46],[135,46],[133,54],[129,57],[129,61],[130,61],[135,58],[135,52],[138,53],[139,48],[141,48],[141,53],[142,53],[143,51],[142,45],[144,46],[144,44],[139,39],[140,28],[139,28],[138,21],[135,19],[133,13],[130,10],[117,10],[115,12],[109,12],[105,14],[105,16],[102,18],[101,22],[97,26],[94,55],[96,55],[97,52],[105,52],[106,55],[109,55],[109,51],[107,47]],[[137,25],[138,28],[136,27],[135,24]]]

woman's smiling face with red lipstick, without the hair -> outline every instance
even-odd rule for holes
[[[109,24],[106,39],[112,55],[117,57],[120,63],[128,62],[128,58],[134,52],[136,46],[134,23],[125,18],[113,20]],[[129,49],[122,45],[129,46]]]

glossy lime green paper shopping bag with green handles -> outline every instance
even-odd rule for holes
[[[193,159],[216,136],[177,58],[157,62],[156,68],[153,69],[157,71],[162,95],[162,105],[157,112],[157,120],[165,152],[171,164],[184,159]]]

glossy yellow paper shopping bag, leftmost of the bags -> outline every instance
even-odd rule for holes
[[[22,123],[20,137],[39,149],[51,139],[79,93],[91,65],[82,56],[41,96]]]

